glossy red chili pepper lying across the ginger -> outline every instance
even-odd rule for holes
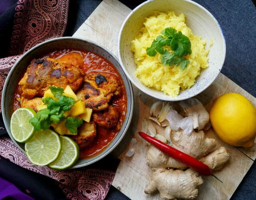
[[[179,162],[186,164],[186,166],[198,171],[200,174],[203,174],[204,176],[212,175],[211,169],[208,167],[208,165],[200,162],[199,160],[196,160],[196,158],[193,158],[190,155],[185,154],[178,149],[174,149],[173,147],[166,145],[165,143],[147,135],[146,133],[139,132],[139,134],[150,144],[154,145],[157,149],[166,153],[168,156],[174,158],[175,160],[178,160]]]

